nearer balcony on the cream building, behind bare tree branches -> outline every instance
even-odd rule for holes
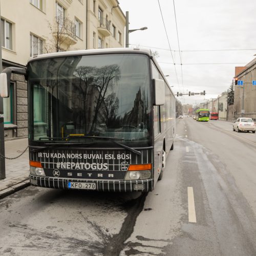
[[[55,30],[53,35],[59,41],[66,45],[75,45],[76,39],[76,25],[69,19],[61,16],[55,17]]]

